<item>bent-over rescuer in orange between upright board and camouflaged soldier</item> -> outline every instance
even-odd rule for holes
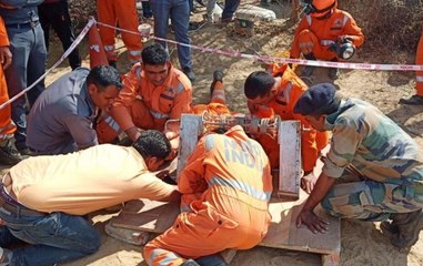
[[[304,176],[301,187],[310,193],[316,177],[313,168],[320,151],[328,145],[326,132],[316,132],[302,115],[294,114],[293,108],[300,96],[308,90],[306,84],[288,66],[273,65],[272,74],[266,71],[251,73],[244,83],[244,93],[251,114],[261,119],[272,119],[280,115],[282,120],[299,120],[301,122],[301,153]],[[272,168],[279,167],[279,144],[276,136],[261,134],[258,141],[263,145]]]

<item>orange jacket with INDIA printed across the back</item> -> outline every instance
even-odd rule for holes
[[[188,158],[178,187],[188,197],[202,193],[199,201],[190,203],[194,212],[207,201],[220,213],[246,225],[249,214],[240,213],[240,203],[269,215],[272,194],[269,160],[261,145],[249,139],[240,125],[224,134],[203,136]]]

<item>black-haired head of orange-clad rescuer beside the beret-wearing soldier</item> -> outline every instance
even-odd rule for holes
[[[254,104],[266,104],[278,93],[276,80],[265,71],[252,72],[245,80],[244,94]]]

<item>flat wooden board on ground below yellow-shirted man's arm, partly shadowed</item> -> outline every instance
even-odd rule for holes
[[[111,224],[115,227],[160,234],[173,225],[179,213],[178,203],[130,201],[122,212],[111,219]]]

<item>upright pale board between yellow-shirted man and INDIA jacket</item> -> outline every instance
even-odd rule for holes
[[[202,132],[203,123],[200,115],[182,114],[178,152],[178,176],[185,166],[187,158],[191,155],[192,151],[194,151],[199,141],[199,135]]]

